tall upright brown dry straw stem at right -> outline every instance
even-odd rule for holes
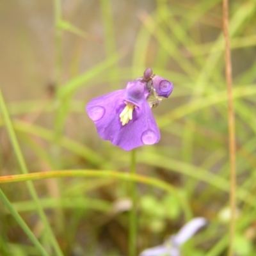
[[[225,37],[225,75],[228,90],[228,138],[229,138],[229,157],[230,157],[230,241],[228,255],[234,254],[234,233],[236,228],[236,134],[235,118],[232,96],[232,66],[230,56],[230,44],[228,34],[228,0],[223,0],[223,32]]]

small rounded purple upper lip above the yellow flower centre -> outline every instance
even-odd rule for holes
[[[126,86],[124,99],[127,102],[140,106],[148,96],[146,84],[140,80],[129,82]]]

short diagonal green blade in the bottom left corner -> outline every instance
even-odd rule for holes
[[[13,208],[12,203],[8,200],[8,198],[4,195],[3,191],[0,189],[0,198],[3,201],[4,205],[8,209],[8,211],[12,214],[13,218],[19,223],[20,227],[24,230],[24,232],[28,235],[29,239],[35,244],[36,248],[40,252],[40,255],[48,256],[48,253],[45,251],[42,244],[39,243],[38,239],[35,237],[33,232],[29,229],[28,225],[22,218],[19,213]]]

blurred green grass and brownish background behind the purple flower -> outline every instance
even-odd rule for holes
[[[256,253],[256,1],[230,1],[229,8],[237,141],[234,245],[236,255],[250,256]],[[219,0],[0,1],[0,88],[28,172],[129,172],[130,153],[100,140],[85,104],[124,88],[147,67],[174,84],[170,98],[153,109],[161,141],[138,148],[136,172],[167,182],[175,193],[156,182],[137,185],[138,252],[163,243],[189,218],[204,216],[209,224],[182,246],[182,255],[227,255],[222,19]],[[19,150],[13,150],[0,110],[0,175],[19,174]],[[27,182],[0,188],[49,255],[58,255],[51,232],[63,255],[127,255],[129,182],[102,175],[33,184],[47,220],[38,216]],[[0,209],[0,255],[40,255],[2,200]]]

